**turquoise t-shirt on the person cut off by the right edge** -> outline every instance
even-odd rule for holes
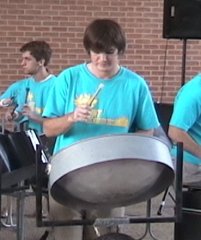
[[[187,132],[195,142],[201,145],[201,74],[187,82],[178,92],[170,125]],[[172,149],[176,156],[176,147]],[[201,164],[201,159],[184,151],[184,160],[192,164]]]

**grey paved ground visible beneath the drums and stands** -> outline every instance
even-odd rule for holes
[[[152,216],[156,215],[160,205],[162,194],[152,199]],[[3,197],[3,205],[5,205],[5,198]],[[163,208],[163,216],[173,214],[173,201],[168,196],[166,205]],[[15,209],[15,207],[14,207]],[[25,201],[25,240],[39,240],[44,233],[44,228],[38,228],[34,217],[35,212],[35,198],[28,197]],[[15,212],[13,213],[15,216]],[[136,204],[126,208],[126,214],[132,216],[145,216],[146,203]],[[14,219],[15,220],[15,219]],[[122,232],[132,236],[133,238],[145,240],[173,240],[174,239],[174,224],[173,223],[153,223],[145,224],[127,224],[121,225]],[[145,235],[145,236],[144,236]],[[152,236],[153,235],[153,236]],[[15,240],[16,231],[14,228],[2,228],[0,231],[0,240]],[[190,239],[189,239],[190,240]]]

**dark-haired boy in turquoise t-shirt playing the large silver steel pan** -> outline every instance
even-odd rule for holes
[[[85,30],[83,44],[90,61],[59,74],[43,112],[45,134],[57,137],[54,153],[104,134],[153,135],[159,122],[149,88],[139,74],[119,64],[126,47],[119,24],[110,19],[94,20]],[[68,158],[65,164],[71,165]],[[78,211],[62,206],[53,198],[50,198],[50,209],[53,219],[79,217]],[[115,211],[122,216],[121,209]],[[113,214],[111,209],[86,210],[87,218],[92,216],[93,219]],[[111,231],[106,226],[96,229],[100,235]],[[66,236],[71,240],[96,238],[92,226],[85,230],[84,235],[81,227],[54,228],[53,233],[57,240]]]

